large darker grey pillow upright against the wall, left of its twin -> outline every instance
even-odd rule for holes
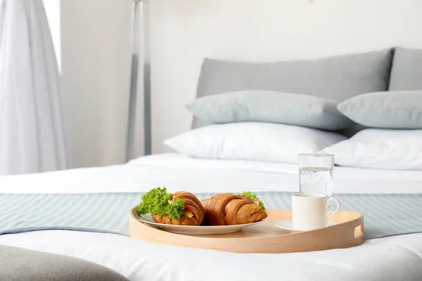
[[[336,101],[387,91],[392,49],[317,60],[236,63],[205,58],[197,98],[244,90],[303,93]],[[193,119],[193,128],[209,122]]]

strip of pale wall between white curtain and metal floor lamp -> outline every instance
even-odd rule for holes
[[[124,161],[131,4],[61,0],[62,83],[75,167]]]

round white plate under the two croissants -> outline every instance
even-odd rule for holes
[[[151,215],[146,214],[138,216],[135,214],[135,217],[143,223],[148,223],[151,226],[155,226],[160,230],[165,230],[170,233],[184,234],[184,235],[216,235],[216,234],[227,234],[227,233],[236,233],[242,228],[247,228],[248,226],[255,226],[262,221],[257,221],[256,223],[245,223],[245,224],[236,224],[235,226],[174,226],[171,224],[155,223]]]

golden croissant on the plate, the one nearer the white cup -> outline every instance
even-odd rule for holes
[[[211,226],[255,223],[267,218],[267,212],[248,197],[233,193],[217,194],[201,201],[205,209],[205,220]]]

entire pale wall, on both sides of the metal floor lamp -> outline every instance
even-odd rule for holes
[[[55,0],[44,0],[47,2]],[[58,0],[56,0],[58,1]],[[65,111],[75,166],[123,161],[131,0],[61,0]],[[419,0],[153,0],[153,152],[190,128],[205,56],[290,60],[422,48]]]

